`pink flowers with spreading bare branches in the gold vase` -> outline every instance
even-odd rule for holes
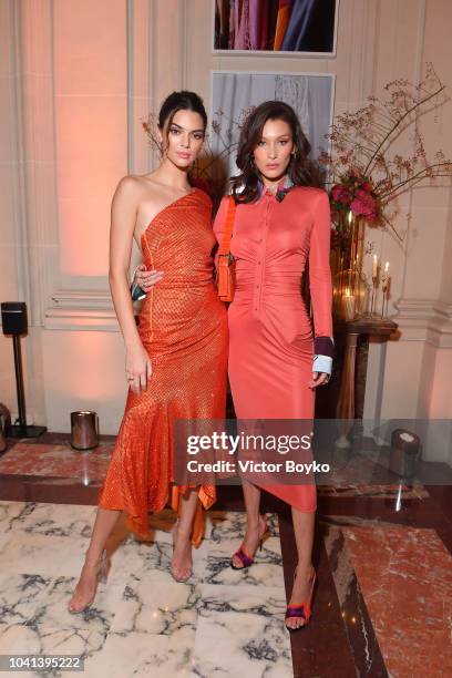
[[[452,161],[436,151],[428,161],[417,120],[441,106],[448,97],[445,85],[438,78],[433,65],[427,64],[424,79],[412,84],[394,80],[384,86],[389,97],[368,97],[368,104],[355,113],[343,113],[336,119],[330,134],[330,154],[321,154],[319,162],[329,176],[331,214],[335,233],[345,236],[345,213],[351,210],[369,224],[390,227],[396,198],[420,183],[438,185],[436,179],[452,177]],[[411,155],[391,154],[392,144],[409,129],[413,129]],[[392,208],[392,215],[390,214]],[[343,233],[341,233],[343,232]]]

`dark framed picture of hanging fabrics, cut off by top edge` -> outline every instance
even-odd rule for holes
[[[213,0],[214,52],[336,55],[339,0]]]

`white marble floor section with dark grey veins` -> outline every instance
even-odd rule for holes
[[[83,655],[90,677],[292,675],[275,515],[245,574],[229,567],[244,514],[212,512],[185,584],[170,574],[172,512],[151,516],[151,542],[116,532],[107,583],[86,613],[71,615],[94,512],[0,503],[0,654]]]

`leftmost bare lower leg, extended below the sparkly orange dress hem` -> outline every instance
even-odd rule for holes
[[[85,562],[74,594],[69,602],[69,608],[72,612],[80,612],[83,609],[95,595],[101,555],[105,548],[106,540],[116,525],[121,513],[121,511],[97,508]]]

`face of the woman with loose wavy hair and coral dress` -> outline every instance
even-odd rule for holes
[[[254,161],[263,178],[276,182],[282,177],[295,151],[289,123],[284,120],[267,120],[260,142],[254,150]]]

